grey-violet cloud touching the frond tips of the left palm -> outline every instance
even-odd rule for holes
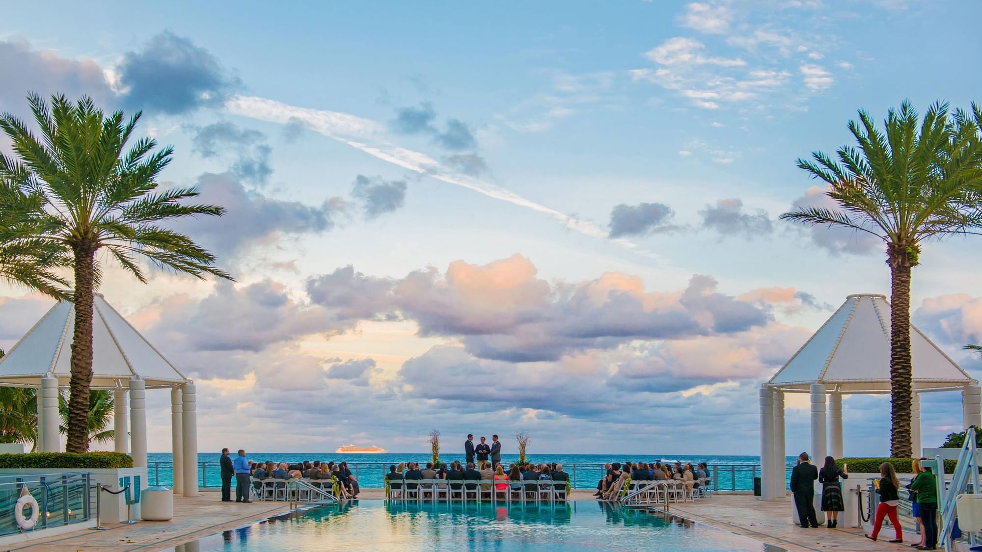
[[[223,217],[191,218],[175,221],[171,227],[186,232],[195,241],[219,256],[235,255],[257,244],[276,242],[284,235],[320,234],[335,226],[335,218],[344,209],[338,197],[319,206],[300,201],[269,197],[246,190],[234,175],[205,173],[197,186],[202,203],[226,208]]]

